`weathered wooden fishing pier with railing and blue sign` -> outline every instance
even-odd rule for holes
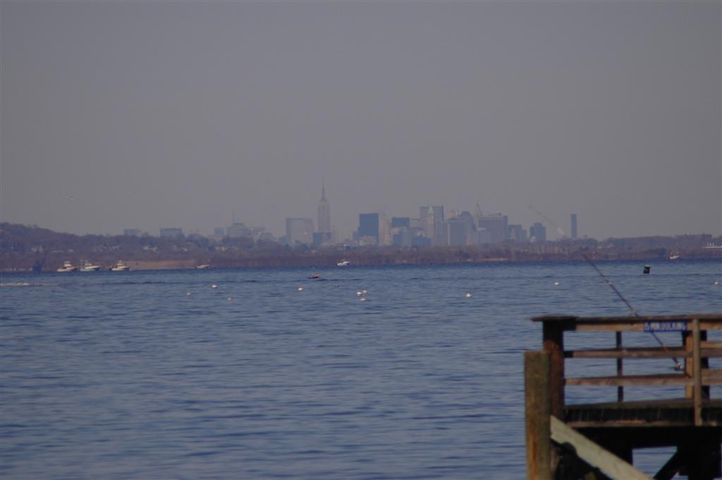
[[[722,342],[708,341],[708,331],[722,330],[722,314],[532,320],[542,325],[543,346],[524,354],[527,480],[722,477],[722,399],[710,396],[710,385],[722,385],[722,370],[710,368],[710,359],[722,357]],[[670,331],[679,332],[679,344],[627,348],[622,342],[624,332],[658,340]],[[565,333],[572,332],[609,335],[613,346],[565,350]],[[616,375],[567,378],[565,359],[610,359]],[[624,362],[640,359],[668,360],[659,373],[625,375]],[[577,386],[616,388],[617,401],[567,405],[565,388]],[[625,401],[625,387],[637,386],[678,386],[679,397]],[[656,475],[633,466],[634,450],[658,447],[675,453]]]

